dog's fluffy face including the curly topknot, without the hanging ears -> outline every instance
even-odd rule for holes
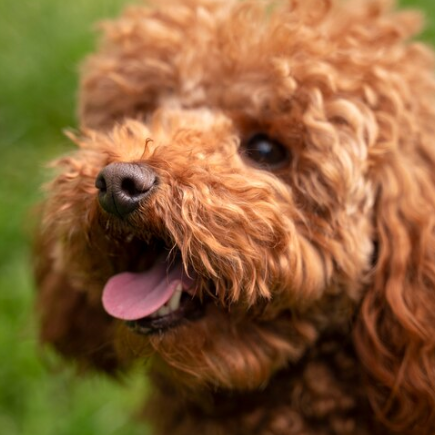
[[[386,71],[418,52],[400,17],[388,31],[380,8],[313,3],[186,1],[106,25],[45,237],[121,360],[256,388],[346,328],[386,261],[374,203],[409,97]]]

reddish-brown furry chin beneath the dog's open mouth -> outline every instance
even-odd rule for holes
[[[117,351],[129,363],[147,362],[153,378],[175,389],[255,390],[288,362],[290,346],[281,334],[241,322],[214,303],[205,305],[200,318],[159,333],[138,333],[140,327],[120,325]],[[292,352],[299,355],[301,348]]]

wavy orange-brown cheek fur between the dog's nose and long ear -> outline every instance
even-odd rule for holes
[[[305,300],[317,299],[325,282],[323,259],[301,232],[304,218],[287,186],[261,173],[255,183],[236,171],[219,184],[214,180],[189,187],[163,180],[156,192],[155,215],[183,258],[213,280],[222,302],[253,305],[279,293],[294,300],[301,292]]]

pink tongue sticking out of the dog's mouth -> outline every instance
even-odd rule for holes
[[[107,281],[103,307],[113,317],[138,320],[161,308],[182,283],[183,267],[177,264],[169,272],[168,263],[157,261],[146,272],[124,272]]]

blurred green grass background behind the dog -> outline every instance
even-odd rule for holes
[[[0,0],[0,433],[147,434],[131,417],[146,385],[53,370],[38,347],[29,261],[31,207],[41,198],[44,164],[72,149],[62,130],[76,126],[80,60],[95,42],[92,24],[126,0]],[[422,36],[435,44],[435,1]],[[47,363],[49,360],[49,364]],[[196,434],[192,434],[196,435]]]

